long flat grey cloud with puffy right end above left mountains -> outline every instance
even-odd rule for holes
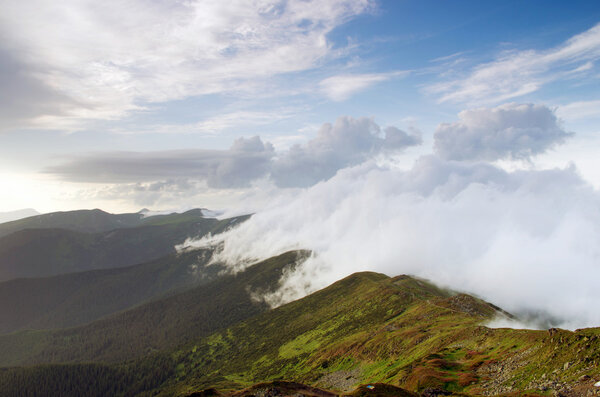
[[[418,132],[381,128],[369,118],[340,117],[324,124],[306,144],[275,152],[258,136],[239,138],[228,150],[114,152],[79,156],[46,173],[71,182],[136,183],[189,179],[209,188],[248,187],[271,177],[280,187],[304,187],[344,167],[421,143]]]

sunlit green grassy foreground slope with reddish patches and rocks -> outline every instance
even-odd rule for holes
[[[254,269],[252,277],[262,280],[264,269]],[[271,273],[268,285],[279,274]],[[577,393],[573,395],[585,395],[592,389],[598,380],[600,329],[531,331],[481,325],[494,314],[481,300],[452,295],[421,280],[357,273],[230,328],[191,337],[172,353],[100,369],[90,364],[5,370],[0,371],[0,385],[12,387],[21,379],[23,389],[18,390],[27,390],[38,381],[52,382],[55,368],[74,388],[85,386],[86,371],[101,371],[95,379],[118,384],[114,394],[119,395],[142,390],[147,390],[143,395],[186,395],[211,386],[232,390],[277,379],[338,390],[366,382],[468,394],[531,390],[530,395],[551,395],[552,390],[570,389]],[[31,341],[23,341],[27,343]],[[54,358],[64,353],[47,352]],[[591,378],[583,380],[584,375]]]

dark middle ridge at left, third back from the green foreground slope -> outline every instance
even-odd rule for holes
[[[0,283],[0,334],[82,325],[167,293],[206,284],[222,267],[210,250],[106,270]]]

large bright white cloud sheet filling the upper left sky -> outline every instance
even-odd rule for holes
[[[0,46],[24,66],[11,95],[35,81],[36,89],[67,99],[61,112],[46,109],[29,121],[74,127],[122,118],[149,103],[259,92],[275,75],[334,56],[327,34],[373,7],[370,0],[70,0],[60,6],[10,0],[0,13]]]

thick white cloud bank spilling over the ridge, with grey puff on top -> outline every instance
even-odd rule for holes
[[[441,150],[444,134],[476,143]],[[599,326],[600,193],[575,166],[508,172],[476,161],[540,153],[566,135],[541,106],[463,112],[438,129],[437,153],[410,169],[373,161],[345,168],[293,197],[274,198],[224,235],[184,247],[220,246],[217,260],[234,270],[286,250],[312,250],[264,297],[273,305],[372,270],[474,293],[527,321]]]

